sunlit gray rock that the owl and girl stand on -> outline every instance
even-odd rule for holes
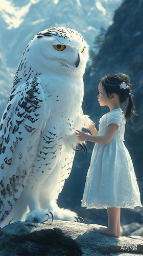
[[[5,226],[0,230],[1,256],[143,254],[141,236],[109,236],[93,231],[93,227],[99,227],[97,224],[59,220],[49,224],[50,221],[45,224],[16,222]]]

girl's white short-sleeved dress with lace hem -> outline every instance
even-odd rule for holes
[[[108,144],[96,143],[93,148],[81,206],[142,207],[133,163],[123,142],[126,119],[120,108],[100,118],[98,136],[104,135],[110,123],[118,125],[117,132]]]

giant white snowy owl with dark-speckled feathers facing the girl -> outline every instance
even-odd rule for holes
[[[36,34],[23,52],[1,120],[1,227],[15,221],[74,221],[57,205],[75,156],[74,130],[92,123],[83,115],[88,46],[64,27]]]

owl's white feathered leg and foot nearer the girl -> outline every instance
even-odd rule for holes
[[[76,212],[69,209],[60,208],[56,203],[59,193],[61,193],[64,186],[64,182],[70,174],[75,152],[72,148],[70,148],[70,151],[67,152],[66,148],[63,146],[60,155],[61,160],[55,166],[53,172],[49,177],[47,177],[41,187],[39,198],[40,207],[43,208],[43,211],[45,211],[45,209],[52,211],[54,219],[75,221],[75,217],[78,219]]]

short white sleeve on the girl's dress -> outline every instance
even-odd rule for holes
[[[122,114],[120,111],[114,111],[109,113],[107,117],[107,126],[111,123],[115,123],[120,127],[122,125]]]

